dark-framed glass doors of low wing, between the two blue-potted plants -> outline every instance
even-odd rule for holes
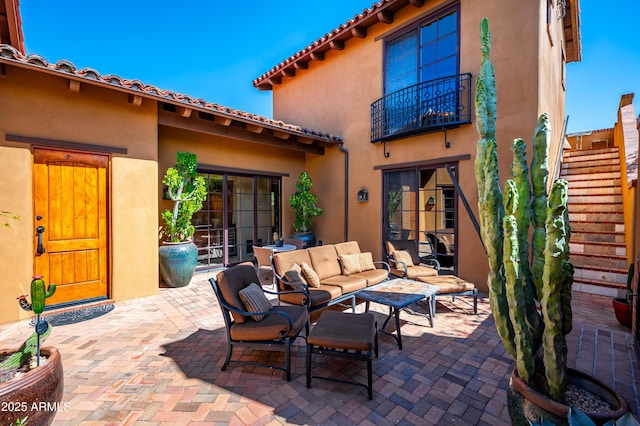
[[[253,259],[253,245],[273,242],[281,233],[281,179],[269,176],[200,173],[207,199],[193,216],[198,269],[212,269]]]

